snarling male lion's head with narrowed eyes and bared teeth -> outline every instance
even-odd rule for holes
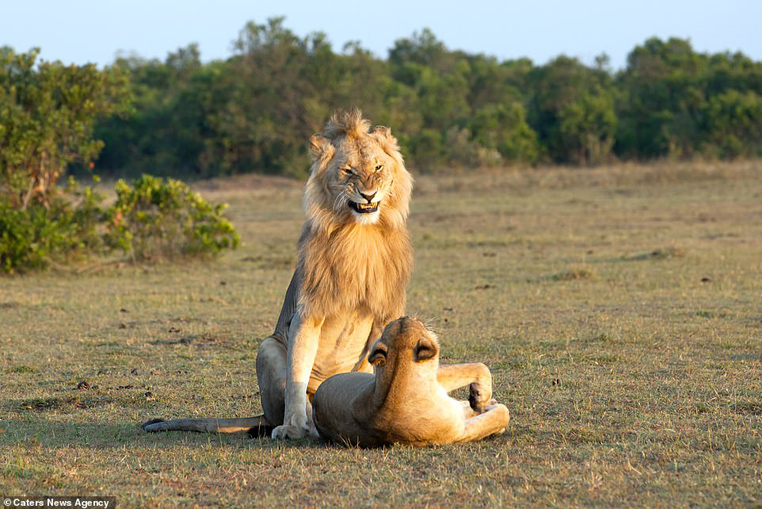
[[[356,109],[339,111],[310,138],[310,152],[304,208],[311,221],[404,224],[413,180],[388,127],[371,127]]]

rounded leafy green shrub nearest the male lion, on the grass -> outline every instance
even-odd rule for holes
[[[179,180],[143,175],[116,183],[107,213],[107,243],[133,260],[215,255],[238,246],[239,235],[212,205]]]

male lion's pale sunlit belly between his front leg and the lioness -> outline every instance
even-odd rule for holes
[[[323,323],[309,392],[314,392],[326,378],[351,371],[362,360],[372,326],[373,315],[367,309],[330,318]]]

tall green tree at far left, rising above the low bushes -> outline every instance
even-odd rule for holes
[[[95,119],[124,112],[128,98],[117,72],[38,55],[0,48],[0,199],[18,210],[49,208],[67,167],[89,164],[103,147]]]

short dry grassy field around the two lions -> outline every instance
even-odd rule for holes
[[[762,505],[762,164],[420,177],[409,313],[482,361],[505,435],[454,447],[146,434],[260,411],[301,185],[205,183],[218,263],[0,279],[0,493],[125,506]],[[79,388],[78,388],[79,387]]]

